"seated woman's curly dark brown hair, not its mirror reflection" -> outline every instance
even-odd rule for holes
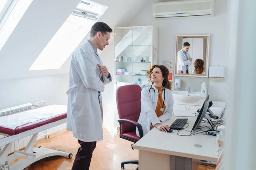
[[[163,84],[162,84],[163,87],[172,90],[172,82],[168,81],[169,80],[169,70],[164,65],[153,65],[152,68],[148,72],[148,77],[150,78],[148,81],[149,82],[151,81],[151,73],[152,73],[153,69],[156,68],[156,67],[160,68],[160,70],[162,72],[162,75],[163,75],[163,78],[164,78]],[[153,84],[153,82],[152,82],[152,84]]]

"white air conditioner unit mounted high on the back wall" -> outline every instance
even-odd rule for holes
[[[214,16],[215,0],[178,0],[153,4],[156,19]]]

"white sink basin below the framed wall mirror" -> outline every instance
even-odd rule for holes
[[[206,94],[202,94],[201,92],[191,92],[189,94],[187,91],[174,91],[173,97],[183,103],[195,103],[205,98]]]

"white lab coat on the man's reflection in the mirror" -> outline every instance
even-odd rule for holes
[[[192,61],[189,60],[190,54],[187,52],[188,59],[186,59],[186,55],[183,53],[182,49],[178,51],[177,54],[177,73],[179,70],[183,71],[183,74],[186,74],[186,65],[191,65]],[[184,61],[185,60],[185,61]],[[188,68],[189,72],[189,68]]]

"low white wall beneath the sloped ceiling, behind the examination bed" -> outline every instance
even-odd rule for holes
[[[67,105],[68,74],[0,80],[0,108],[27,102]]]

